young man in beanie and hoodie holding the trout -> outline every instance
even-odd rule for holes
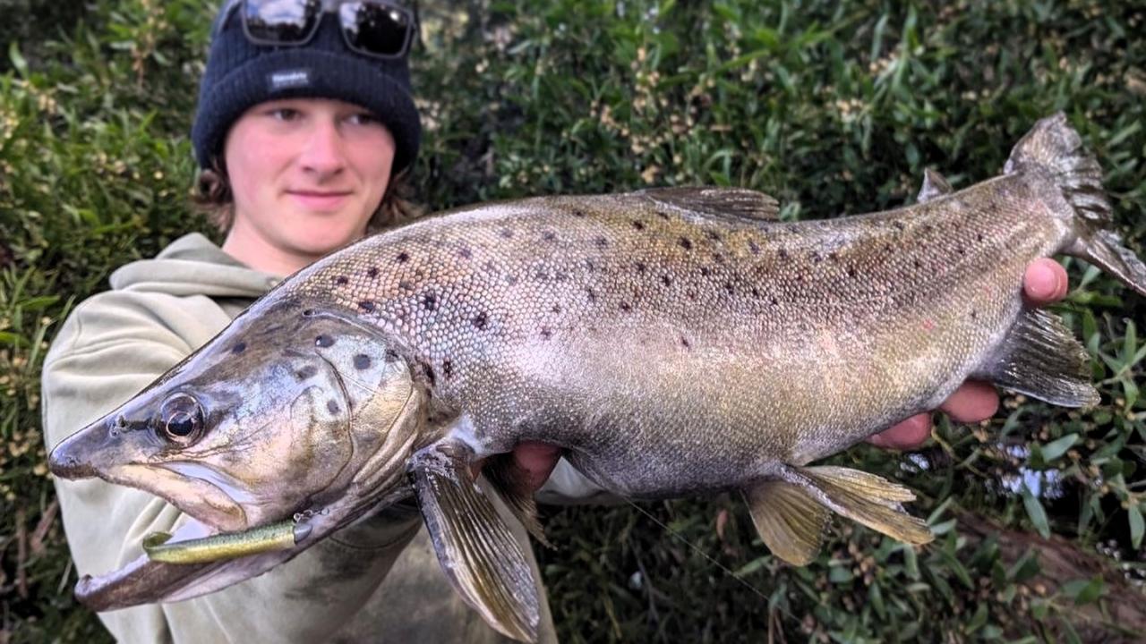
[[[264,13],[272,5],[285,7],[289,19]],[[382,1],[317,5],[231,2],[220,13],[193,141],[204,199],[217,207],[226,241],[220,249],[201,235],[182,237],[155,259],[124,266],[111,291],[77,307],[44,368],[49,447],[147,386],[283,276],[400,210],[392,183],[416,157],[421,134],[406,57],[413,16]],[[361,38],[378,24],[385,31]],[[1028,274],[1038,299],[1061,297],[1065,286],[1054,262]],[[970,385],[944,409],[971,421],[996,405],[989,386]],[[873,442],[909,447],[928,427],[919,416]],[[557,451],[525,445],[516,461],[541,487]],[[598,492],[567,468],[558,473],[544,498]],[[57,480],[56,488],[80,574],[123,566],[140,555],[143,535],[172,532],[181,520],[162,500],[103,481]],[[501,641],[450,588],[419,528],[416,509],[400,505],[259,578],[101,619],[121,642]],[[542,605],[542,639],[554,641]]]

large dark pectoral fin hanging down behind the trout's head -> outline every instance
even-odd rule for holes
[[[471,451],[438,442],[410,458],[418,504],[454,588],[495,629],[536,642],[539,592],[517,540],[477,487]]]

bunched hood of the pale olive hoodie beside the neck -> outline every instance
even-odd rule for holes
[[[249,268],[199,233],[183,235],[154,259],[127,264],[110,277],[117,291],[212,298],[258,298],[280,281]]]

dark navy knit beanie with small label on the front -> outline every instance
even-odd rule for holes
[[[256,45],[243,18],[226,2],[212,28],[211,52],[199,84],[191,143],[201,168],[222,154],[223,138],[248,109],[277,99],[337,99],[370,110],[394,136],[393,173],[414,163],[422,139],[410,96],[407,57],[375,58],[343,40],[338,16],[323,11],[319,32],[304,46]],[[220,29],[221,26],[221,29]]]

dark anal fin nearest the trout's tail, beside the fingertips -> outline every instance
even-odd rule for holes
[[[1090,356],[1053,313],[1023,311],[1003,343],[998,360],[986,369],[998,385],[1062,407],[1097,405],[1090,384]]]

